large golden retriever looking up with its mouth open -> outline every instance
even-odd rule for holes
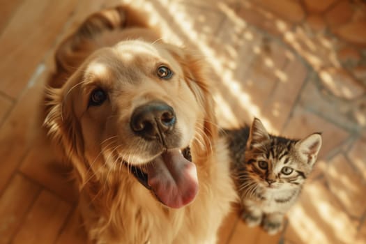
[[[73,166],[91,243],[215,243],[236,198],[201,55],[128,7],[56,50],[45,128]]]

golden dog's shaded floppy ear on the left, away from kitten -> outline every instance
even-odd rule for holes
[[[52,142],[61,144],[66,160],[72,159],[79,182],[86,180],[87,166],[81,156],[84,153],[82,130],[75,114],[73,100],[80,97],[79,89],[70,86],[72,82],[66,82],[61,89],[46,89],[46,116],[43,126],[47,129]]]

